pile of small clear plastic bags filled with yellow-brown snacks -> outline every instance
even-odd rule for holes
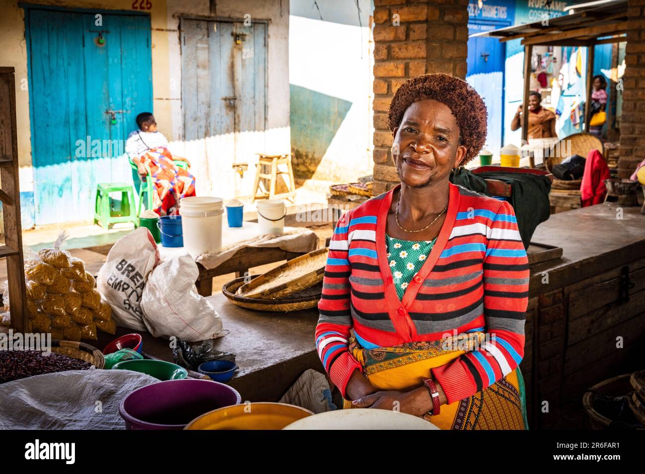
[[[69,341],[96,340],[97,328],[114,334],[112,308],[101,303],[94,275],[86,272],[84,262],[62,250],[66,238],[63,231],[53,248],[26,251],[28,331],[49,332],[52,339]]]

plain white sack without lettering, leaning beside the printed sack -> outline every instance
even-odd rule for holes
[[[176,336],[187,342],[224,335],[212,304],[197,293],[199,270],[190,255],[172,257],[157,266],[143,290],[143,322],[154,337]]]

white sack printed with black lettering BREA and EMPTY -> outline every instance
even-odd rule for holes
[[[144,227],[121,237],[110,249],[96,284],[99,293],[112,306],[112,317],[119,326],[146,330],[141,295],[150,272],[158,264],[159,249]]]

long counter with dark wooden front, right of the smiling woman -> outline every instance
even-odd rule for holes
[[[645,368],[645,215],[604,204],[557,213],[531,240],[563,252],[531,267],[520,366],[530,425],[582,427],[588,388]]]

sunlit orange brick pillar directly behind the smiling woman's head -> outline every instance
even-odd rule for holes
[[[468,0],[374,0],[374,5],[373,156],[379,194],[399,183],[388,129],[394,92],[415,75],[466,77]]]

